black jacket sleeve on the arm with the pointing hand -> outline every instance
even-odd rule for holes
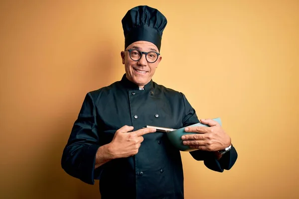
[[[95,103],[88,93],[63,150],[62,168],[67,174],[93,185],[104,166],[95,169],[99,147]]]

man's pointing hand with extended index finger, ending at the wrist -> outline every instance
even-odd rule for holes
[[[133,129],[133,126],[123,126],[116,131],[109,144],[109,151],[113,158],[126,158],[136,155],[144,141],[143,135],[156,131],[155,128],[143,128],[130,132]]]

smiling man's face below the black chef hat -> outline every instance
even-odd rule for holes
[[[126,51],[121,52],[123,64],[125,64],[126,76],[128,80],[137,84],[140,87],[145,86],[151,80],[155,69],[158,67],[162,57],[159,55],[158,59],[154,63],[149,63],[146,60],[146,55],[142,54],[139,61],[134,61],[130,58],[129,49],[138,49],[142,52],[155,51],[157,53],[157,47],[148,41],[137,41],[129,45]]]

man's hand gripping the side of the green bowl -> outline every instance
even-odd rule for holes
[[[196,134],[183,135],[181,137],[184,140],[183,144],[204,151],[220,151],[231,144],[229,135],[224,132],[218,122],[212,119],[201,119],[200,122],[208,126],[185,128],[186,132]]]

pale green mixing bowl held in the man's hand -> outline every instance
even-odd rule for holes
[[[213,120],[217,121],[220,125],[222,125],[220,117],[214,118]],[[196,124],[192,124],[190,126],[208,126],[208,125],[202,124],[202,123],[196,123]],[[186,127],[190,127],[190,126],[186,126]],[[170,131],[170,132],[166,133],[169,141],[171,142],[171,144],[175,148],[177,148],[180,151],[195,151],[195,150],[198,150],[198,149],[192,149],[188,145],[183,144],[183,140],[181,139],[181,137],[183,135],[195,134],[195,133],[192,133],[192,132],[185,132],[184,129],[186,127],[179,128],[179,129],[176,129],[174,131]]]

